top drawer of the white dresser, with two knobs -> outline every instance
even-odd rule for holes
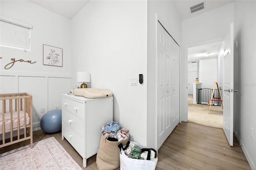
[[[62,107],[73,115],[84,119],[84,103],[62,97]]]

